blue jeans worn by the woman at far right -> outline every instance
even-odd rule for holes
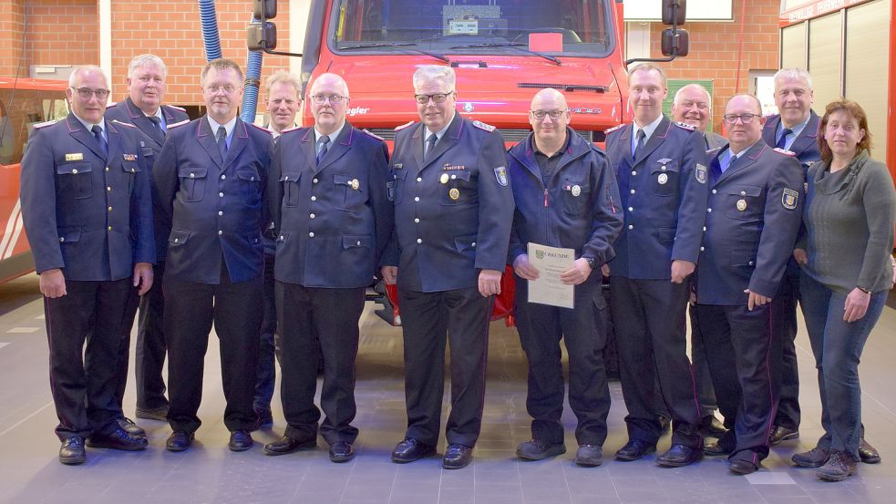
[[[868,312],[855,322],[843,321],[846,295],[835,293],[803,273],[800,307],[819,370],[821,427],[819,447],[845,452],[859,460],[861,387],[859,359],[868,335],[887,302],[887,292],[872,293]]]

